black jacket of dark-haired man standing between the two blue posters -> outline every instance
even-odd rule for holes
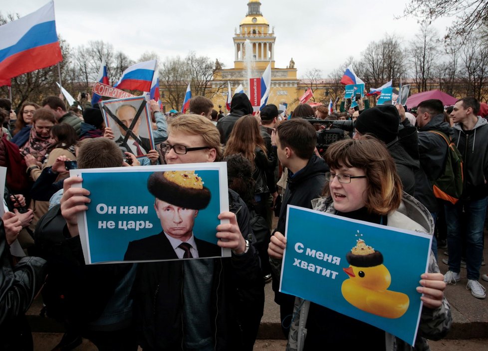
[[[279,231],[283,235],[285,233],[287,205],[312,208],[311,201],[320,197],[325,184],[325,172],[328,171],[329,167],[325,161],[315,155],[294,176],[291,176],[291,172],[288,171],[288,184],[281,200],[281,209],[275,231]],[[274,301],[278,305],[289,305],[291,303],[291,306],[293,306],[294,297],[278,291],[279,276],[275,274],[273,274],[272,287],[275,293]]]

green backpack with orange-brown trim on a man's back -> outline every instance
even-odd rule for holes
[[[458,202],[463,193],[463,158],[451,137],[439,131],[429,131],[441,136],[448,145],[444,171],[432,181],[434,196],[452,204]]]

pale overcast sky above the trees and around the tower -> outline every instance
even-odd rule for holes
[[[417,19],[394,18],[403,13],[406,2],[362,1],[360,6],[357,0],[261,0],[263,16],[274,25],[275,67],[285,68],[293,57],[298,77],[312,68],[327,77],[349,56],[359,59],[370,41],[386,33],[407,44],[418,31]],[[23,16],[46,3],[5,0],[1,13]],[[232,37],[247,13],[247,0],[57,0],[54,9],[57,32],[71,47],[103,40],[133,60],[146,51],[164,60],[193,50],[233,68]],[[449,23],[442,18],[433,26],[442,36]]]

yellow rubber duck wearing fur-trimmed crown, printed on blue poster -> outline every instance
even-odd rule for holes
[[[346,255],[349,276],[342,283],[342,296],[358,309],[385,318],[400,318],[408,310],[406,294],[387,290],[391,274],[383,265],[383,255],[358,239],[357,245]]]

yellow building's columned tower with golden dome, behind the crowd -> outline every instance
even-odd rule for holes
[[[227,101],[227,89],[222,92],[222,86],[227,81],[231,83],[231,92],[242,84],[244,92],[249,94],[249,78],[260,78],[271,63],[271,91],[268,104],[279,105],[286,102],[288,110],[296,105],[297,99],[303,94],[299,87],[299,80],[296,78],[296,68],[293,59],[286,68],[274,66],[274,26],[269,23],[261,13],[261,2],[249,0],[247,13],[239,24],[239,29],[234,31],[234,68],[217,69],[212,81],[212,89],[221,92],[216,93],[213,98],[214,106],[225,106]],[[219,68],[219,67],[217,67]],[[292,105],[290,105],[292,104]]]

